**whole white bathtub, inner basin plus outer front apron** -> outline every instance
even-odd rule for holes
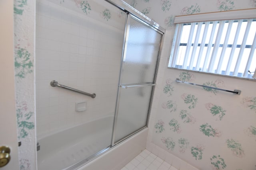
[[[38,139],[38,170],[120,170],[146,148],[148,128],[109,148],[113,117],[104,117]],[[92,128],[93,127],[93,128]],[[93,154],[106,149],[95,159]],[[81,162],[74,168],[74,164]],[[118,162],[118,163],[116,163]]]

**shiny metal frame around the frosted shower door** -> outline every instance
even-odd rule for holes
[[[107,0],[108,1],[108,0]],[[120,67],[120,74],[119,74],[119,83],[118,83],[118,96],[116,98],[116,109],[115,109],[115,116],[114,116],[114,125],[113,125],[113,131],[112,131],[112,142],[111,142],[111,147],[118,145],[119,143],[121,143],[122,141],[128,139],[129,137],[133,136],[134,134],[138,133],[139,131],[142,131],[143,129],[148,127],[148,123],[149,123],[149,117],[150,117],[150,111],[151,111],[151,107],[152,107],[152,101],[153,101],[153,96],[154,96],[154,90],[155,90],[155,85],[156,85],[156,78],[157,78],[157,73],[158,73],[158,68],[159,68],[159,63],[160,63],[160,56],[161,56],[161,51],[162,51],[162,44],[163,44],[163,36],[164,36],[164,32],[157,29],[154,24],[150,25],[149,23],[147,23],[146,21],[142,20],[141,18],[131,14],[130,12],[126,13],[126,28],[125,28],[125,33],[124,33],[124,44],[123,44],[123,53],[122,53],[122,60],[121,60],[121,67]],[[144,24],[147,27],[150,27],[151,29],[154,29],[155,31],[157,31],[158,33],[160,33],[162,35],[161,40],[160,40],[160,45],[159,45],[159,51],[158,51],[158,59],[157,59],[157,64],[156,64],[156,71],[155,71],[155,77],[154,77],[154,82],[151,84],[152,86],[152,92],[151,92],[151,97],[150,97],[150,104],[148,107],[148,116],[147,116],[147,123],[146,126],[138,129],[137,131],[134,131],[133,133],[127,135],[126,137],[120,139],[119,141],[115,142],[115,130],[116,130],[116,123],[117,123],[117,117],[118,117],[118,107],[119,107],[119,100],[120,100],[120,89],[122,86],[124,86],[123,84],[120,84],[120,82],[122,82],[122,68],[123,68],[123,63],[124,60],[126,58],[126,50],[127,50],[127,43],[128,43],[128,37],[129,37],[129,30],[130,30],[130,19],[133,18],[134,20]],[[155,23],[155,22],[154,22]],[[161,27],[162,28],[162,27]],[[142,84],[140,85],[140,87],[142,86],[149,86],[148,84]]]

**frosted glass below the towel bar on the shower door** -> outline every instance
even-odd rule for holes
[[[153,87],[120,90],[115,142],[147,125]]]

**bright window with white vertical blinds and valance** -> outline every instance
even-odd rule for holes
[[[241,11],[250,13],[237,12]],[[249,19],[234,19],[237,16],[229,12],[213,13],[211,19],[214,14],[218,20],[202,18],[208,14],[177,17],[183,23],[176,23],[169,67],[256,78],[256,11],[238,14]],[[199,21],[192,22],[193,17]]]

